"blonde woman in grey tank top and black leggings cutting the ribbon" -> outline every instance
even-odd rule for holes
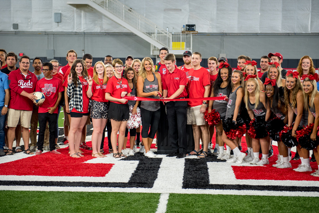
[[[155,99],[162,95],[160,73],[155,72],[153,60],[150,57],[145,57],[141,62],[137,78],[137,92],[140,97]],[[144,156],[153,158],[156,155],[150,149],[159,127],[160,102],[142,101],[141,116],[143,124],[142,141],[145,147]]]

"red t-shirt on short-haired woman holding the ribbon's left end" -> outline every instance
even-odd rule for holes
[[[120,80],[121,81],[121,80]],[[110,93],[113,98],[121,99],[122,92],[132,92],[128,80],[122,78],[122,83],[118,81],[118,79],[113,76],[107,81],[106,92]],[[122,104],[121,102],[114,102],[115,104]],[[125,103],[127,104],[127,102]]]

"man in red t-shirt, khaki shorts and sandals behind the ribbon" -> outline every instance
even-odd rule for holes
[[[192,54],[191,62],[193,64],[192,69],[189,71],[188,76],[188,89],[189,98],[207,98],[210,92],[210,77],[209,72],[204,67],[201,67],[200,62],[202,61],[201,53],[195,52]],[[203,138],[203,153],[200,154],[199,158],[205,158],[208,156],[208,143],[209,143],[209,132],[204,119],[204,112],[207,107],[207,101],[196,100],[188,101],[187,108],[187,124],[192,125],[193,135],[195,141],[195,149],[188,155],[199,154],[199,139],[202,135]]]

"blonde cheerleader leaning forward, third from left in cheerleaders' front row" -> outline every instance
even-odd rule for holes
[[[270,117],[270,107],[266,108],[266,95],[264,92],[260,91],[259,82],[257,81],[257,76],[248,75],[245,79],[245,97],[244,103],[248,110],[249,117],[251,120],[255,119],[254,123],[259,122],[259,127],[262,128],[262,123],[265,122]],[[258,124],[257,124],[258,125]],[[269,152],[269,142],[267,140],[266,125],[262,129],[257,128],[257,125],[253,125],[252,129],[256,132],[255,136],[251,135],[251,144],[253,149],[253,159],[247,157],[246,161],[252,160],[250,164],[265,165],[269,164],[268,152]],[[259,161],[259,149],[260,145],[262,147],[263,158]],[[247,156],[251,156],[248,153]],[[249,159],[248,159],[249,158]]]

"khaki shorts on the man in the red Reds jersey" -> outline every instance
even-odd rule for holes
[[[31,115],[32,111],[8,109],[8,127],[17,127],[20,120],[22,127],[29,128]]]

